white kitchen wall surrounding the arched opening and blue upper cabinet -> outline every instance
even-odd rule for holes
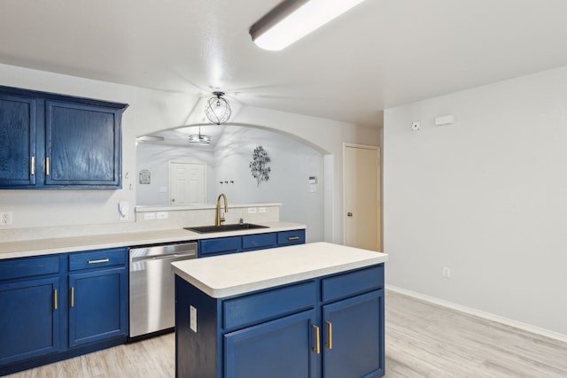
[[[122,119],[122,171],[128,174],[123,180],[124,189],[0,190],[0,210],[12,211],[14,222],[12,227],[0,230],[0,236],[10,228],[117,223],[120,201],[130,204],[128,222],[133,222],[138,173],[136,135],[190,124],[190,111],[198,104],[197,90],[194,94],[173,94],[16,66],[0,65],[0,82],[5,86],[130,105]],[[253,107],[243,107],[235,114],[234,121],[273,128],[311,142],[327,153],[323,158],[324,240],[342,243],[342,143],[377,144],[378,127],[356,127],[346,122]]]

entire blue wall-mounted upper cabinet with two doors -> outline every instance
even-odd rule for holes
[[[0,87],[0,189],[120,189],[127,106]]]

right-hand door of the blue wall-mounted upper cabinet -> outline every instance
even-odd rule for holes
[[[45,112],[45,185],[120,188],[121,110],[46,101]]]

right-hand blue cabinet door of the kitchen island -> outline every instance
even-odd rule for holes
[[[323,305],[325,378],[384,375],[384,289]]]

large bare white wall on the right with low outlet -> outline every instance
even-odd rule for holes
[[[388,284],[567,335],[566,214],[567,67],[385,111]]]

